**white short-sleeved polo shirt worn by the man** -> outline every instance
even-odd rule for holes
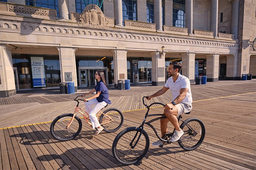
[[[173,100],[175,100],[178,95],[180,95],[180,90],[187,88],[187,94],[181,103],[187,103],[192,106],[192,95],[190,89],[190,80],[184,75],[179,74],[177,80],[174,83],[173,77],[170,77],[165,84],[165,87],[169,88],[172,91]]]

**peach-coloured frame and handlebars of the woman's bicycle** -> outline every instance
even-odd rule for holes
[[[79,96],[77,96],[76,98],[78,98],[78,97],[79,97]],[[86,123],[88,123],[89,125],[92,126],[92,124],[88,121],[88,120],[90,119],[90,118],[89,118],[89,113],[87,113],[86,111],[84,111],[82,108],[79,107],[79,100],[80,100],[80,101],[84,101],[84,100],[81,100],[81,99],[76,100],[76,98],[74,98],[74,100],[75,100],[76,102],[78,102],[78,104],[76,105],[75,111],[74,111],[74,113],[73,113],[73,117],[72,117],[71,120],[69,121],[69,124],[66,125],[66,129],[68,129],[69,126],[72,124],[72,122],[73,122],[73,120],[74,120],[74,118],[75,118],[76,112],[80,113],[80,114],[84,117]],[[86,116],[84,113],[82,113],[82,112],[84,112],[85,114],[87,114],[87,116]],[[113,119],[112,119],[109,115],[106,115],[105,113],[103,113],[103,112],[101,112],[101,111],[98,111],[98,113],[96,114],[96,115],[97,115],[97,116],[96,116],[97,119],[98,119],[99,115],[101,115],[101,114],[104,114],[104,115],[108,118],[108,121],[104,121],[104,123],[101,123],[100,125],[103,125],[103,124],[106,124],[106,123],[110,123],[110,122],[113,121]]]

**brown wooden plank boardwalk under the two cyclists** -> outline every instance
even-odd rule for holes
[[[146,111],[142,106],[141,99],[144,94],[141,91],[151,94],[150,91],[155,87],[148,87],[146,91],[138,88],[130,91],[129,95],[120,94],[119,91],[113,91],[112,94],[110,92],[110,95],[113,95],[111,107],[125,111],[122,128],[114,133],[102,132],[94,136],[95,131],[83,121],[79,136],[67,142],[54,140],[49,132],[50,123],[38,122],[48,121],[44,119],[47,114],[53,114],[48,116],[53,120],[52,117],[62,112],[72,111],[75,107],[74,102],[34,101],[4,104],[0,106],[1,112],[15,107],[16,111],[11,113],[18,116],[1,113],[1,126],[5,126],[0,129],[0,169],[256,169],[255,85],[255,82],[250,82],[242,85],[239,83],[193,86],[193,110],[190,115],[183,115],[183,120],[196,117],[203,121],[206,126],[206,137],[202,145],[190,152],[183,151],[177,142],[163,148],[150,146],[145,158],[140,163],[130,166],[124,166],[113,158],[112,142],[121,130],[140,125]],[[47,98],[48,96],[50,98]],[[58,100],[74,98],[73,95],[54,96]],[[54,96],[43,97],[55,101]],[[167,93],[154,98],[154,102],[166,103],[170,98],[171,94]],[[53,106],[61,109],[57,113],[50,112],[49,110],[54,109]],[[71,109],[67,109],[68,107]],[[162,110],[153,108],[150,113],[161,113]],[[6,121],[9,121],[9,126],[12,123],[16,127],[5,128],[9,127],[6,126]],[[17,123],[24,123],[25,126],[17,126]],[[154,126],[160,133],[158,123]],[[171,125],[169,126],[169,129],[172,129]],[[148,126],[145,126],[145,131],[150,142],[157,140],[153,130]]]

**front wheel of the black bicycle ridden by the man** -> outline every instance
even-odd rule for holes
[[[112,153],[116,160],[124,165],[132,165],[144,158],[149,149],[149,136],[143,130],[142,136],[135,148],[131,148],[130,142],[133,140],[137,132],[141,132],[142,129],[137,127],[130,127],[121,131],[114,139],[112,145]],[[137,134],[139,135],[139,133]],[[138,137],[135,138],[136,142]],[[133,142],[133,143],[134,143]]]

